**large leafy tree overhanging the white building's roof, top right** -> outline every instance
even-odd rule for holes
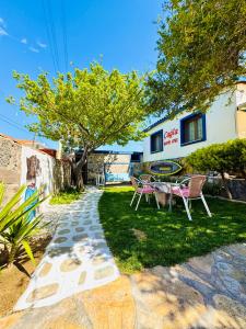
[[[246,75],[245,0],[168,0],[159,29],[156,72],[149,79],[155,111],[206,111]]]

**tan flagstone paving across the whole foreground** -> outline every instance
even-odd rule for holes
[[[246,243],[0,319],[4,329],[245,329]]]

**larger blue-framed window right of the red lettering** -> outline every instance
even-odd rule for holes
[[[206,140],[206,115],[191,114],[180,121],[181,145]]]

